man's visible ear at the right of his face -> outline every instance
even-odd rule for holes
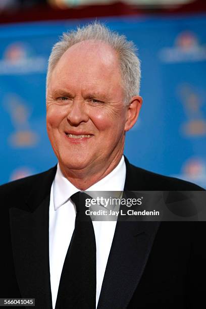
[[[133,96],[127,107],[127,119],[125,123],[125,131],[129,131],[139,116],[139,112],[142,106],[142,97],[137,95]]]

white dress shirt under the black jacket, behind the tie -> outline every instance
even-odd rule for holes
[[[123,191],[126,178],[124,157],[117,167],[86,191]],[[76,210],[70,197],[78,192],[64,177],[60,166],[52,184],[49,204],[49,266],[53,309],[55,308],[61,273],[74,231]],[[117,221],[92,221],[96,240],[96,307],[115,233]]]

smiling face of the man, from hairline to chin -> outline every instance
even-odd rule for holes
[[[46,95],[48,137],[62,169],[98,170],[121,158],[128,130],[123,102],[110,46],[90,40],[64,53]]]

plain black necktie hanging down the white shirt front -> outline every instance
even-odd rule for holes
[[[95,309],[96,243],[83,192],[71,196],[76,205],[75,229],[65,258],[56,309]]]

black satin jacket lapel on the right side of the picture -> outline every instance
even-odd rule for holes
[[[125,190],[145,190],[126,161]],[[139,182],[139,185],[138,185]],[[118,221],[97,309],[124,309],[143,274],[159,222]]]

